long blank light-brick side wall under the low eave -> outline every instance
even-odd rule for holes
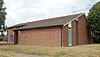
[[[21,30],[19,44],[35,46],[61,46],[61,28]]]

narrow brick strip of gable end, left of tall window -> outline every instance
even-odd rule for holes
[[[68,25],[62,28],[62,46],[68,46]]]

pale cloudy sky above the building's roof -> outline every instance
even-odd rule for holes
[[[6,24],[36,21],[45,18],[85,12],[100,0],[4,0]]]

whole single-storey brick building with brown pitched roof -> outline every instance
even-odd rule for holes
[[[89,43],[84,13],[8,27],[8,43],[34,46],[71,46]]]

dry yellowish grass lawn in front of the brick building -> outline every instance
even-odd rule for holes
[[[0,45],[0,50],[48,57],[100,57],[100,44],[78,45],[73,47]]]

